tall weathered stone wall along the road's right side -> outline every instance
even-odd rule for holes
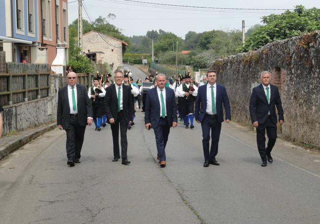
[[[279,87],[284,108],[283,136],[320,147],[320,32],[216,60],[211,68],[227,89],[232,120],[247,125],[251,125],[251,83],[259,82],[261,71],[271,71],[271,83]]]

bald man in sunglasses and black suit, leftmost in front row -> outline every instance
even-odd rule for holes
[[[80,163],[80,152],[86,125],[92,124],[92,106],[87,90],[77,85],[77,74],[69,72],[66,80],[68,85],[58,92],[57,126],[66,132],[67,164],[74,166]]]

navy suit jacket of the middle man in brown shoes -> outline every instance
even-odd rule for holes
[[[167,112],[168,126],[171,128],[173,122],[177,119],[177,104],[174,91],[169,87],[165,88],[165,106]],[[144,123],[151,123],[153,128],[157,128],[160,121],[160,100],[158,97],[158,88],[152,88],[147,91],[146,106],[144,112]]]

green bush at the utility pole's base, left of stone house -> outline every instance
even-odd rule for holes
[[[85,55],[80,55],[80,48],[75,50],[75,55],[69,58],[67,64],[71,66],[75,73],[95,72],[94,65],[90,59]]]

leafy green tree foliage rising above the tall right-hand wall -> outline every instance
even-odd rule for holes
[[[262,22],[265,25],[256,29],[240,50],[243,52],[256,50],[276,40],[320,30],[319,21],[320,9],[305,9],[302,5],[297,5],[293,11],[287,10],[279,15],[263,16]]]

